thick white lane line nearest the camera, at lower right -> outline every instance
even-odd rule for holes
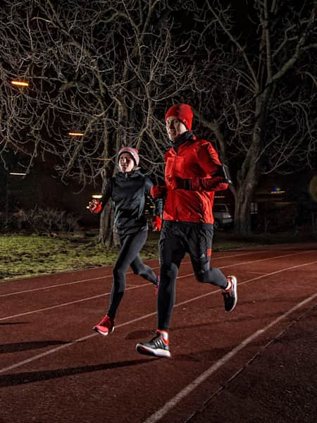
[[[242,343],[237,345],[235,348],[233,348],[229,353],[225,354],[220,360],[213,363],[209,369],[207,369],[204,373],[201,373],[194,381],[192,381],[189,385],[187,385],[182,391],[177,393],[172,399],[170,399],[163,407],[161,407],[159,410],[154,412],[147,420],[144,421],[144,423],[156,423],[159,422],[159,420],[164,417],[175,405],[178,405],[180,401],[185,398],[189,393],[194,391],[197,386],[202,384],[206,379],[208,379],[213,373],[215,373],[223,364],[228,362],[232,359],[237,353],[242,350],[245,346],[249,345],[249,343],[253,342],[256,338],[258,338],[262,333],[266,332],[268,329],[270,329],[272,326],[277,324],[282,319],[285,319],[285,317],[289,316],[294,312],[295,310],[301,308],[303,305],[306,305],[308,302],[311,302],[317,298],[317,293],[311,295],[309,298],[306,298],[302,302],[299,302],[297,305],[294,305],[290,310],[279,316],[277,319],[271,321],[268,325],[264,326],[262,329],[258,329],[254,333],[252,333],[250,336],[244,339]]]

